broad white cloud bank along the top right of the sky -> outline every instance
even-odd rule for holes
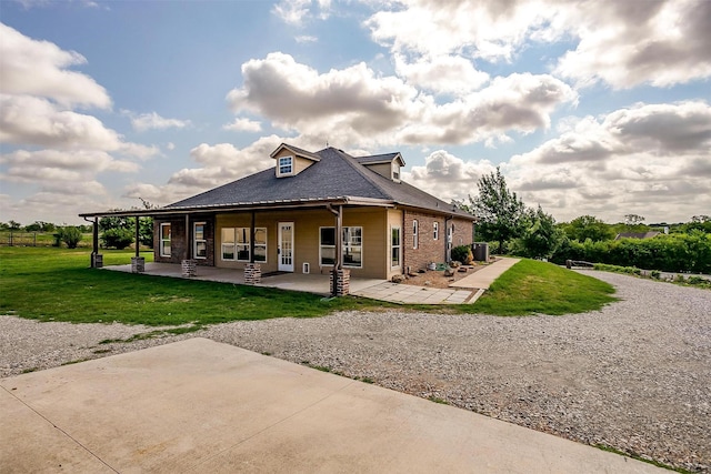
[[[554,72],[580,85],[668,87],[711,77],[708,1],[399,0],[365,26],[393,53],[424,58],[511,62],[531,41],[578,41]]]

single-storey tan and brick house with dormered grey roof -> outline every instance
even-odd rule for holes
[[[248,282],[332,270],[337,284],[389,280],[448,261],[452,246],[473,242],[474,216],[401,181],[400,153],[351,157],[282,143],[271,158],[271,169],[121,215],[153,216],[156,262],[243,270]]]

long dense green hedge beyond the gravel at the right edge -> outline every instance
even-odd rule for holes
[[[564,240],[550,260],[558,264],[582,260],[665,272],[711,273],[711,234],[693,231],[642,240]]]

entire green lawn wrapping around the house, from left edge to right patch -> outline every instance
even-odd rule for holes
[[[400,306],[367,299],[137,275],[89,269],[86,249],[0,246],[0,314],[73,323],[199,327],[236,320],[314,317],[341,310],[564,314],[614,301],[612,286],[550,263],[522,260],[473,305]],[[130,263],[133,251],[103,251],[106,265]],[[151,252],[143,252],[147,261]]]

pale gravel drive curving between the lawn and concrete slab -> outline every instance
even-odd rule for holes
[[[691,471],[711,470],[711,292],[591,272],[622,301],[568,316],[339,313],[153,329],[0,316],[0,376],[200,335]],[[107,352],[110,351],[110,352]]]

